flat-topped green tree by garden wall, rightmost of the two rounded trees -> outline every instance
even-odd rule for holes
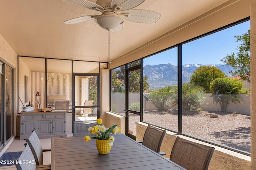
[[[238,101],[239,103],[243,103],[239,93],[244,93],[243,84],[238,79],[231,78],[219,78],[215,79],[210,83],[210,89],[213,94],[214,101],[216,103],[220,103],[220,108],[222,112],[226,112],[227,106],[229,105],[229,101],[235,103]]]

